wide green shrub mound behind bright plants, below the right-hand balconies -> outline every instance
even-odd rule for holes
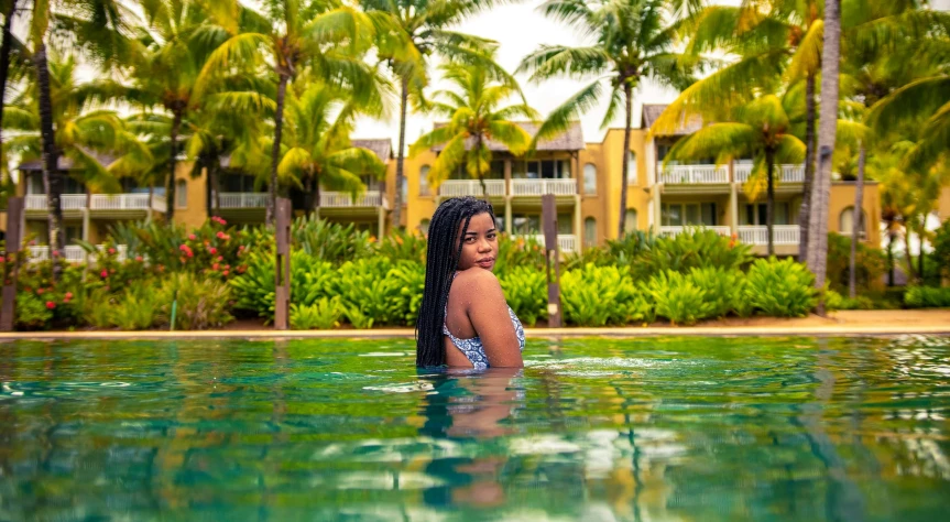
[[[722,237],[712,230],[691,230],[676,237],[659,237],[643,249],[630,265],[636,280],[673,270],[688,273],[692,268],[717,267],[736,270],[752,261],[751,247]]]

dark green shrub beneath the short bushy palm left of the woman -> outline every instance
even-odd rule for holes
[[[353,224],[340,225],[315,216],[299,217],[291,227],[291,236],[295,247],[334,264],[373,254],[370,232],[358,231]]]

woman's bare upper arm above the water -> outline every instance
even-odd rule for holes
[[[523,368],[521,345],[507,313],[507,302],[498,278],[487,270],[477,270],[466,278],[470,298],[468,316],[476,334],[484,345],[492,368]]]

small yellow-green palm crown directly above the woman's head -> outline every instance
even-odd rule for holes
[[[439,90],[433,95],[433,110],[447,118],[448,123],[436,127],[419,138],[410,150],[416,154],[437,145],[445,145],[429,171],[434,187],[447,180],[460,165],[473,180],[479,180],[485,192],[484,175],[491,165],[490,142],[505,145],[514,155],[528,151],[532,137],[512,118],[534,120],[536,112],[525,104],[501,107],[511,97],[521,94],[509,78],[492,74],[480,65],[449,63],[443,65],[443,77],[456,90]]]

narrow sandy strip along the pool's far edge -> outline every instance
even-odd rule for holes
[[[914,311],[841,311],[829,317],[816,315],[795,319],[755,317],[750,319],[722,319],[701,323],[691,327],[675,327],[668,324],[653,324],[624,328],[547,328],[537,325],[526,328],[528,337],[636,337],[646,335],[902,335],[902,334],[950,334],[950,309]],[[413,337],[411,328],[379,328],[356,330],[276,331],[265,327],[260,320],[244,319],[232,323],[223,329],[204,331],[15,331],[0,333],[3,339],[52,339],[52,338],[214,338],[214,337],[287,337],[287,338],[387,338]]]

